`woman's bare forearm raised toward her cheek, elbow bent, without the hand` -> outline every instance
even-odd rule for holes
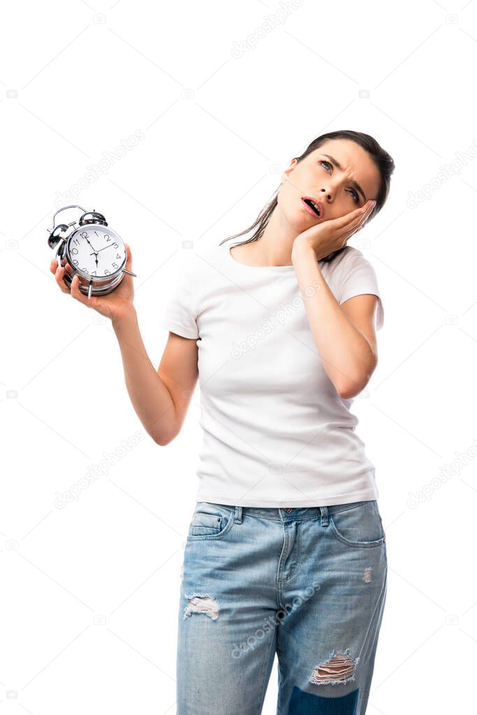
[[[313,248],[294,246],[292,262],[315,345],[328,377],[340,395],[360,392],[376,364],[370,343],[335,299]]]

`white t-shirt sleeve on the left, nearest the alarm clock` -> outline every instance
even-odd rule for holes
[[[195,310],[195,273],[197,264],[194,257],[187,257],[185,265],[176,270],[172,291],[166,306],[159,314],[159,325],[176,332],[182,337],[199,337],[197,312]]]

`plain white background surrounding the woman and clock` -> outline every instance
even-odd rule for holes
[[[277,166],[335,129],[373,135],[396,163],[388,203],[350,240],[385,307],[353,405],[389,562],[368,712],[463,711],[477,659],[477,2],[9,1],[0,51],[1,711],[175,712],[200,393],[173,443],[144,435],[56,506],[141,425],[109,322],[49,273],[54,211],[94,207],[129,242],[158,365],[187,242],[245,229]],[[275,661],[264,713],[276,694]]]

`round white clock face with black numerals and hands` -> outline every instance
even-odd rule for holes
[[[68,260],[75,270],[92,277],[114,275],[126,265],[126,248],[107,226],[80,227],[68,242]]]

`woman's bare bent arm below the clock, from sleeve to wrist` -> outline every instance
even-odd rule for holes
[[[144,347],[134,308],[112,320],[112,327],[134,410],[154,442],[167,445],[180,432],[197,382],[197,344],[169,332],[156,370]]]

